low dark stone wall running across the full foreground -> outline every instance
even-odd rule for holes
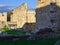
[[[60,33],[46,33],[40,35],[29,35],[29,34],[19,34],[19,35],[0,35],[0,40],[40,40],[40,39],[58,39],[60,38]]]

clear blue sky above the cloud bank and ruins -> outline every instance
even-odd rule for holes
[[[27,2],[28,9],[35,9],[36,0],[0,0],[0,6],[12,6],[16,8],[24,2]]]

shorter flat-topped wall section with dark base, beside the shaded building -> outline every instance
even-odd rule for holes
[[[35,10],[28,10],[27,11],[27,23],[26,23],[26,29],[27,31],[32,31],[35,29],[36,24],[36,13]]]

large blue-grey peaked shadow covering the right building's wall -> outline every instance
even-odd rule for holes
[[[36,10],[36,28],[52,28],[60,30],[60,7],[51,3]]]

